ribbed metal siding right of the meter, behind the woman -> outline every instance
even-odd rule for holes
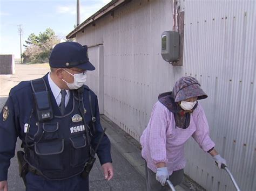
[[[209,96],[202,103],[211,137],[241,190],[256,190],[255,1],[185,1],[184,8],[184,72]],[[187,144],[185,172],[207,190],[234,190],[195,145]]]

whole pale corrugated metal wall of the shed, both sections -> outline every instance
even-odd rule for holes
[[[256,3],[185,1],[181,5],[184,66],[173,67],[160,55],[160,35],[172,30],[172,1],[132,1],[114,11],[114,17],[106,16],[77,34],[79,43],[104,44],[104,114],[139,140],[158,94],[170,91],[180,76],[194,76],[209,96],[200,103],[217,150],[241,190],[256,190]],[[97,58],[90,52],[94,63]],[[96,78],[89,85],[97,91]],[[192,139],[186,145],[186,158],[185,173],[207,190],[234,190],[227,174]]]

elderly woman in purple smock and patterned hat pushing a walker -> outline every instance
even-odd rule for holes
[[[190,76],[181,77],[168,93],[160,94],[140,143],[146,161],[147,190],[166,190],[169,179],[174,186],[183,180],[184,145],[191,136],[212,155],[220,168],[226,165],[214,149],[203,108],[197,100],[207,95],[199,82]]]

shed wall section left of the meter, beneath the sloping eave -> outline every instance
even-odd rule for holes
[[[131,16],[134,9],[137,12]],[[161,59],[159,52],[161,32],[171,30],[170,10],[171,1],[131,2],[114,12],[113,18],[105,17],[95,27],[77,34],[82,44],[104,44],[104,114],[137,140],[159,92],[172,86],[170,80],[160,78],[165,72],[169,79],[173,67]],[[158,86],[157,76],[165,87]]]

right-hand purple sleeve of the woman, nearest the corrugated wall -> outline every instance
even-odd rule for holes
[[[196,117],[194,118],[194,121],[197,126],[197,130],[193,133],[192,137],[198,145],[207,152],[212,147],[215,146],[212,139],[209,136],[209,125],[205,116],[204,109],[201,107],[200,104],[198,104],[198,114],[196,114]]]

